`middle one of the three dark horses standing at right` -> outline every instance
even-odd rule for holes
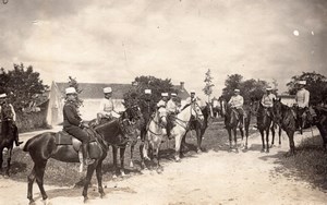
[[[272,110],[272,109],[271,109]],[[262,152],[269,153],[269,131],[271,131],[272,134],[272,141],[271,146],[274,146],[275,142],[275,122],[272,119],[272,112],[268,110],[268,108],[265,108],[261,100],[252,101],[252,112],[256,116],[256,124],[257,129],[262,135],[262,142],[263,142],[263,148]],[[265,143],[265,133],[266,133],[266,143]],[[280,135],[281,135],[281,129],[279,126],[279,145],[280,142]]]

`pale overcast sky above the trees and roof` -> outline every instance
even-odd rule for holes
[[[210,69],[215,96],[235,73],[282,92],[302,72],[327,75],[327,1],[9,0],[0,67],[21,62],[49,85],[154,75],[203,93]]]

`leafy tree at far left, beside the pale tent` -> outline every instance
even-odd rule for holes
[[[34,72],[32,65],[25,68],[21,63],[13,67],[14,69],[8,72],[1,69],[0,89],[7,93],[15,110],[22,111],[23,108],[28,107],[37,94],[45,93],[49,87],[44,85],[39,73]]]

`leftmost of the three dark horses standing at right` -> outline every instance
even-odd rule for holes
[[[243,110],[244,110],[244,123],[243,123],[243,126],[241,126],[240,121],[242,119],[239,118],[238,111],[235,109],[231,108],[225,100],[221,100],[220,104],[221,104],[221,109],[222,109],[221,113],[225,117],[225,126],[226,126],[226,130],[227,130],[228,135],[229,135],[229,148],[232,149],[232,131],[233,131],[235,150],[237,150],[237,153],[239,152],[238,138],[237,138],[237,129],[239,128],[241,136],[242,136],[242,141],[243,141],[243,138],[244,138],[243,126],[244,126],[245,137],[246,137],[244,148],[247,149],[249,126],[250,126],[250,122],[251,122],[251,114],[250,114],[249,107],[244,106],[244,108],[243,108]]]

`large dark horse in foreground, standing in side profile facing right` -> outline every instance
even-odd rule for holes
[[[84,196],[84,202],[88,200],[87,189],[94,170],[96,170],[100,196],[102,197],[105,195],[102,189],[102,160],[107,156],[108,145],[125,144],[129,138],[136,137],[136,135],[138,135],[138,132],[135,130],[130,120],[123,118],[119,118],[105,124],[96,125],[94,130],[88,129],[87,132],[90,136],[94,136],[96,141],[90,143],[90,157],[96,160],[94,164],[88,165],[87,167],[86,179],[82,193]],[[27,177],[27,198],[29,200],[29,203],[34,203],[33,183],[35,180],[41,192],[43,200],[48,198],[48,195],[44,189],[44,174],[49,158],[65,162],[80,162],[78,153],[75,148],[76,143],[73,143],[73,145],[57,145],[57,135],[58,134],[55,132],[45,132],[38,134],[33,138],[29,138],[23,148],[23,150],[29,153],[34,161],[32,172]],[[81,142],[77,141],[77,143],[80,143],[81,146]]]

